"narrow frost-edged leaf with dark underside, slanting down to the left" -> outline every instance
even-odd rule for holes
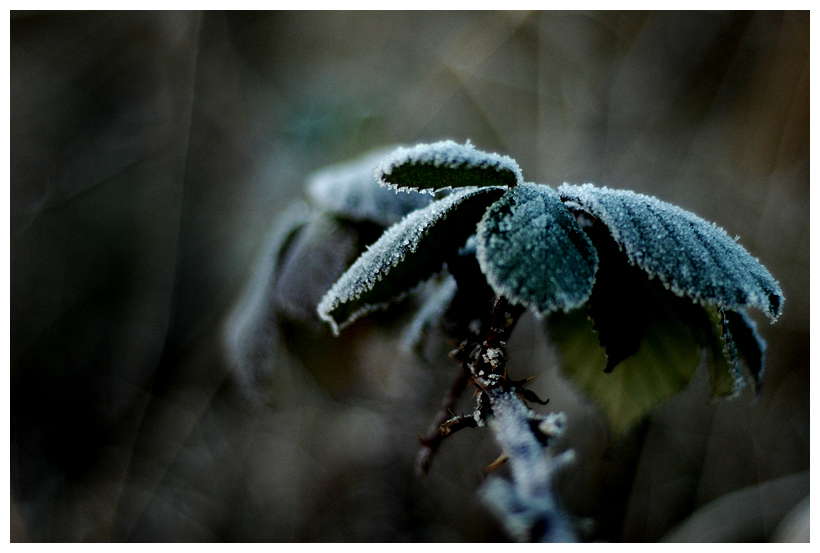
[[[503,191],[500,187],[458,191],[408,214],[339,278],[319,304],[319,316],[338,334],[360,316],[405,296],[458,252],[487,206]]]

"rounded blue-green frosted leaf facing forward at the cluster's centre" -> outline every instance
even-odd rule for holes
[[[508,190],[481,219],[477,243],[493,290],[536,315],[566,311],[589,298],[598,256],[548,186],[524,183]]]

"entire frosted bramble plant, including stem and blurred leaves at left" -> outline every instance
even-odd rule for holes
[[[572,541],[573,521],[552,491],[572,451],[551,453],[563,414],[536,414],[527,380],[506,370],[506,342],[527,309],[543,320],[561,368],[624,433],[680,392],[703,359],[714,397],[748,371],[757,389],[765,343],[746,314],[774,322],[777,281],[736,240],[656,198],[590,184],[557,190],[525,182],[516,162],[469,142],[380,150],[308,180],[314,207],[289,212],[255,284],[228,327],[240,373],[272,370],[281,317],[334,334],[413,294],[426,295],[402,345],[436,325],[458,344],[453,386],[418,458],[442,440],[489,426],[512,482],[481,496],[523,541]],[[264,371],[263,371],[264,372]],[[452,408],[477,388],[468,415]]]

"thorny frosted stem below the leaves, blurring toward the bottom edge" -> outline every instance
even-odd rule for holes
[[[526,380],[507,378],[506,341],[523,311],[499,297],[481,332],[471,334],[453,352],[452,356],[461,364],[459,374],[434,423],[438,425],[438,434],[422,442],[425,447],[419,455],[418,469],[423,472],[429,467],[444,436],[489,422],[503,455],[509,459],[513,482],[488,480],[481,490],[485,502],[520,541],[575,541],[569,517],[552,491],[552,478],[573,454],[568,451],[551,457],[545,450],[563,430],[563,414],[534,413],[524,400],[544,402],[524,390]],[[467,383],[480,390],[475,412],[472,416],[448,418]],[[433,427],[430,434],[432,431]]]

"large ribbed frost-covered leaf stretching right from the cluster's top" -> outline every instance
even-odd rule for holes
[[[714,224],[626,190],[564,184],[558,192],[600,219],[630,262],[675,294],[733,311],[755,306],[772,321],[780,315],[783,293],[777,281]]]

